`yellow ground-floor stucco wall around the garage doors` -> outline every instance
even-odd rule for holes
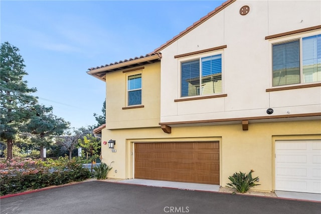
[[[248,131],[240,124],[174,127],[172,134],[161,128],[102,130],[102,140],[116,140],[116,152],[102,145],[102,161],[112,164],[109,178],[134,177],[133,142],[220,141],[220,185],[236,171],[259,176],[255,189],[274,189],[274,144],[276,140],[321,139],[321,121],[253,123]],[[117,170],[117,173],[115,172]]]

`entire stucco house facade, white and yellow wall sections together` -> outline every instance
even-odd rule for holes
[[[244,5],[250,7],[250,13],[241,16],[239,9]],[[321,31],[265,40],[273,34],[321,25],[320,8],[320,1],[236,1],[162,50],[161,63],[144,65],[144,69],[129,73],[107,73],[107,120],[102,141],[116,140],[116,152],[102,144],[102,161],[115,161],[108,177],[134,177],[134,142],[219,141],[221,186],[229,182],[228,176],[234,172],[253,169],[261,184],[255,188],[273,190],[275,141],[321,139],[321,121],[316,117],[250,120],[246,131],[240,121],[177,124],[170,134],[164,133],[158,123],[262,117],[267,115],[267,108],[274,109],[273,115],[320,112],[320,86],[266,89],[274,88],[272,44]],[[180,101],[180,62],[204,53],[178,59],[174,56],[223,45],[227,48],[206,54],[222,53],[222,94],[227,96]],[[142,74],[144,107],[123,109],[127,77],[138,73]]]

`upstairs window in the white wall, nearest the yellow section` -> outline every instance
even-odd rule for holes
[[[181,96],[222,93],[222,55],[181,63]]]

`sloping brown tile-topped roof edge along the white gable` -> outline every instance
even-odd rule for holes
[[[174,43],[175,41],[177,41],[178,39],[180,39],[181,37],[183,37],[184,35],[186,35],[190,31],[192,31],[193,29],[195,29],[196,27],[198,27],[199,25],[201,25],[202,23],[204,23],[208,19],[212,18],[217,13],[221,12],[223,9],[225,9],[226,7],[228,7],[229,5],[234,3],[235,1],[236,0],[228,0],[228,1],[224,2],[221,6],[217,7],[214,11],[211,11],[206,16],[202,17],[199,21],[193,23],[193,25],[191,25],[190,27],[185,29],[185,31],[182,31],[179,35],[177,35],[173,39],[167,41],[165,44],[156,48],[153,52],[150,52],[149,54],[160,52],[161,50],[168,47],[169,45],[171,45],[172,43]]]

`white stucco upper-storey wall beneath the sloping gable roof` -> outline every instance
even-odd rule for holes
[[[241,16],[239,9],[244,5],[250,12]],[[272,44],[320,34],[321,30],[270,40],[265,37],[321,25],[320,8],[320,1],[236,1],[166,47],[161,62],[161,122],[267,116],[267,108],[274,109],[273,115],[319,112],[319,86],[266,89],[272,88]],[[211,53],[223,53],[222,93],[227,97],[174,102],[181,98],[180,62],[204,54],[174,56],[222,45],[227,48]]]

